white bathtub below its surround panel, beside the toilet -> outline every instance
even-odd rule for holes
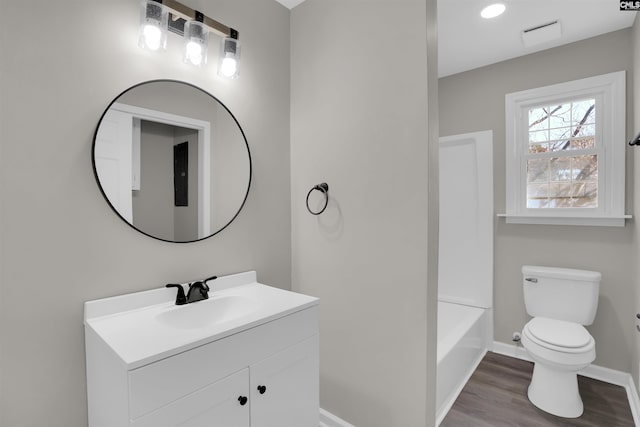
[[[438,301],[437,425],[484,357],[491,310]]]

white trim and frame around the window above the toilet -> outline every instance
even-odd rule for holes
[[[526,162],[522,143],[526,129],[523,114],[544,103],[595,97],[597,121],[602,132],[598,152],[598,207],[526,207]],[[507,223],[554,225],[624,226],[625,180],[625,72],[604,74],[505,96],[506,107],[506,188]],[[519,135],[520,133],[520,135]]]

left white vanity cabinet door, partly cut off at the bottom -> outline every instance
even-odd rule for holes
[[[247,385],[243,369],[131,422],[132,427],[249,427]],[[245,397],[244,404],[238,400]]]

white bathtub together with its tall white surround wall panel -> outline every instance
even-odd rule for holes
[[[493,132],[440,138],[437,423],[493,345]]]

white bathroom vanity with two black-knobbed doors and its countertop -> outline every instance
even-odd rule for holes
[[[129,311],[138,317],[124,319],[85,314],[89,427],[317,427],[317,299],[300,297],[284,312],[210,329],[210,339],[184,330],[159,347],[161,335],[143,334],[140,318],[155,318],[155,309],[137,307]]]

